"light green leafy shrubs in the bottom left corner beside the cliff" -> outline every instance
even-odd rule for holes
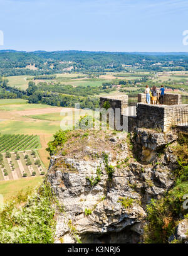
[[[33,196],[31,193],[19,192],[1,209],[0,243],[54,242],[55,210],[51,208],[51,189],[43,184]]]

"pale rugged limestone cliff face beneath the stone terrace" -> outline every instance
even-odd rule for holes
[[[47,175],[63,207],[56,212],[56,243],[142,242],[146,204],[174,184],[176,157],[168,149],[158,157],[156,150],[174,140],[144,130],[133,143],[127,133],[72,132]],[[136,160],[132,147],[147,162]]]

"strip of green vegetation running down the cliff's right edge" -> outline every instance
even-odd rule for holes
[[[164,198],[152,199],[147,205],[148,225],[145,227],[145,243],[167,243],[174,234],[175,226],[187,212],[182,204],[183,196],[188,194],[188,136],[179,134],[175,145],[172,145],[174,155],[177,155],[179,166],[175,169],[175,186]]]

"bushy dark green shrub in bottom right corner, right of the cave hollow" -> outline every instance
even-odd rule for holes
[[[188,194],[188,181],[177,181],[176,186],[160,200],[151,200],[147,205],[147,220],[145,227],[145,243],[167,243],[174,233],[175,226],[180,220],[180,214],[184,215],[182,204],[184,194]]]

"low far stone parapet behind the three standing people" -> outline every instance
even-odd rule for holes
[[[146,103],[145,93],[138,94],[138,103]],[[157,103],[159,103],[159,92],[157,92]],[[165,93],[164,94],[164,105],[179,105],[182,104],[181,94]]]

